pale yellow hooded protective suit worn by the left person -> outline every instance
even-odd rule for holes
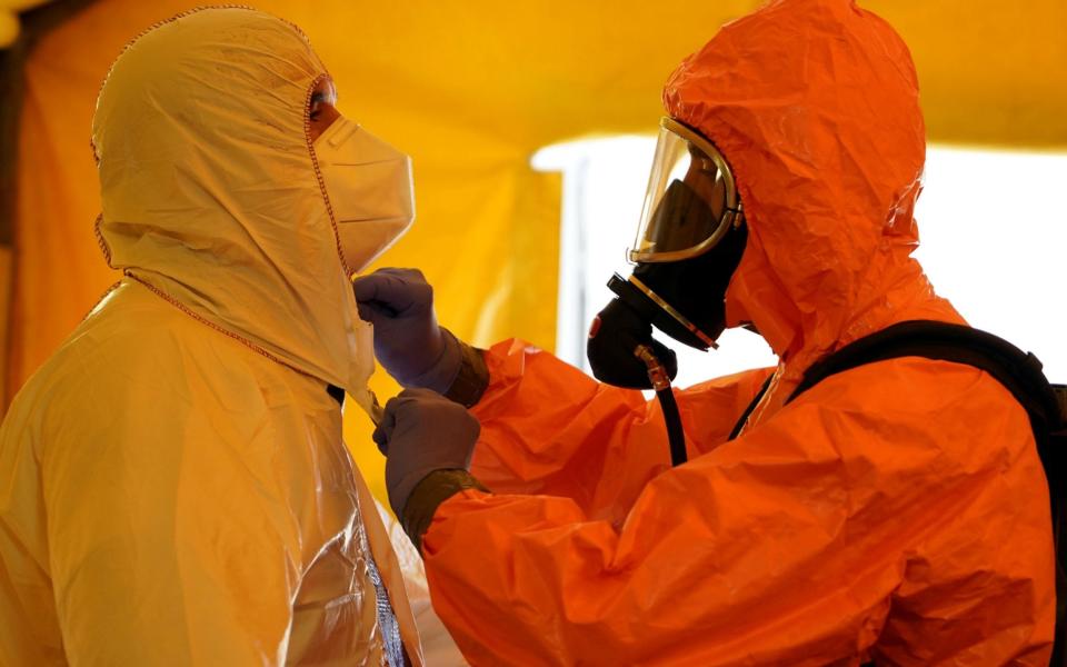
[[[327,392],[367,407],[372,357],[308,135],[323,76],[246,9],[116,61],[93,146],[124,278],[0,432],[0,664],[381,665],[402,638],[421,665]]]

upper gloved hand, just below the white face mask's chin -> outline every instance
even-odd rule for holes
[[[448,391],[462,364],[459,341],[438,326],[433,288],[418,269],[378,269],[352,283],[359,317],[375,326],[375,356],[405,387]]]

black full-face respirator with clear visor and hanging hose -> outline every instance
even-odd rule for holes
[[[698,350],[717,347],[726,327],[726,289],[747,238],[726,159],[699,132],[664,118],[629,251],[635,268],[629,278],[616,273],[608,281],[617,297],[594,319],[587,355],[597,379],[656,390],[675,465],[685,460],[670,391],[678,362],[670,348],[652,338],[652,328]]]

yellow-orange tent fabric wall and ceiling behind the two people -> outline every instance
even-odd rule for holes
[[[549,349],[560,182],[532,171],[530,156],[591,133],[654,131],[666,76],[757,4],[257,3],[310,36],[342,112],[412,156],[418,218],[379,265],[421,268],[440,320],[461,338],[522,336]],[[930,139],[1067,147],[1063,0],[861,4],[911,47]],[[99,196],[88,141],[100,81],[129,39],[192,6],[100,0],[50,32],[28,62],[8,397],[118,278],[92,233]],[[371,386],[382,398],[396,391],[381,372]],[[369,432],[362,412],[348,411],[348,442],[385,497]]]

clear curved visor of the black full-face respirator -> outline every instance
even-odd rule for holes
[[[672,118],[659,142],[641,207],[632,262],[689,259],[707,252],[744,221],[734,172],[710,141]]]

